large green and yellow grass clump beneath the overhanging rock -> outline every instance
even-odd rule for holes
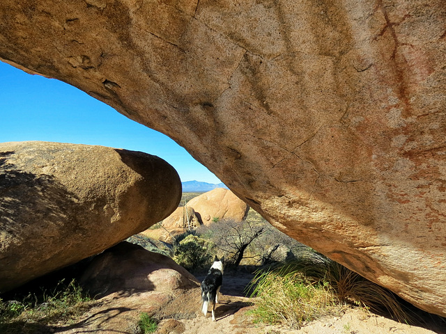
[[[396,294],[311,250],[274,269],[259,271],[249,287],[259,297],[254,317],[266,323],[299,328],[303,321],[334,310],[334,305],[359,305],[387,313],[397,321],[413,322]]]

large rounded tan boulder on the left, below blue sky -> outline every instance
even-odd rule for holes
[[[0,144],[0,291],[73,264],[169,216],[181,197],[166,161],[62,143]]]

